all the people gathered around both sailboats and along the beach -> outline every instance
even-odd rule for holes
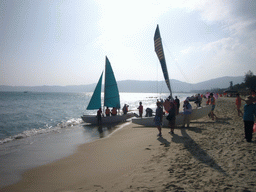
[[[245,101],[244,105],[244,113],[241,111],[241,105],[242,105],[242,100]],[[195,103],[197,107],[201,107],[202,103],[202,95],[198,94],[195,97]],[[211,105],[211,112],[208,114],[209,118],[212,120],[217,120],[218,117],[214,113],[214,109],[216,106],[216,100],[215,96],[213,93],[210,93],[209,96],[207,97],[206,105]],[[256,126],[254,123],[254,116],[256,116],[256,94],[255,91],[252,90],[250,93],[250,96],[246,97],[246,99],[242,99],[240,97],[240,94],[238,93],[236,95],[236,107],[237,107],[237,113],[239,117],[243,117],[244,121],[244,130],[245,130],[245,138],[248,142],[251,142],[252,140],[252,133],[253,133],[253,126]],[[166,116],[166,119],[169,122],[169,128],[170,128],[170,134],[174,134],[174,129],[175,129],[175,124],[176,124],[176,116],[179,114],[179,109],[180,109],[180,100],[178,99],[177,96],[175,96],[175,99],[173,99],[171,96],[168,97],[165,101],[160,100],[157,101],[156,103],[157,108],[155,112],[155,117],[154,117],[154,122],[155,126],[158,129],[158,136],[162,136],[162,122],[163,122],[163,117],[165,117],[165,113],[168,115]],[[122,108],[123,114],[128,113],[128,107],[129,105],[125,104],[124,107]],[[138,111],[139,111],[139,116],[142,118],[143,115],[143,105],[142,102],[139,102],[138,106]],[[153,110],[150,108],[146,108],[146,117],[152,116]],[[181,115],[184,116],[183,118],[183,124],[182,127],[189,127],[190,125],[190,116],[192,113],[192,106],[190,104],[189,98],[187,98],[184,101],[183,104],[183,113]],[[101,108],[97,111],[97,118],[98,122],[101,122],[101,117],[102,117],[102,110]],[[110,110],[108,107],[105,110],[105,115],[106,116],[116,116],[117,115],[117,109],[113,107],[112,110]],[[256,131],[256,130],[255,130]]]

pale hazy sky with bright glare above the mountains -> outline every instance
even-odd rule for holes
[[[1,0],[0,85],[97,83],[107,56],[117,81],[199,83],[256,75],[256,0]]]

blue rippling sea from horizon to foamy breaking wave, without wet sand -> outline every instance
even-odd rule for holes
[[[58,131],[83,123],[81,115],[96,114],[86,111],[92,93],[0,92],[0,144],[38,134]],[[181,100],[191,94],[177,93]],[[102,95],[103,96],[103,95]],[[120,93],[121,106],[137,112],[138,103],[155,108],[159,98],[168,94]]]

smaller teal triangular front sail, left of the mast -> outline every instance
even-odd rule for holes
[[[95,90],[93,92],[92,98],[90,100],[89,105],[87,106],[87,110],[94,110],[101,108],[101,84],[102,84],[102,75],[101,73],[100,79],[97,83],[97,86],[95,87]]]

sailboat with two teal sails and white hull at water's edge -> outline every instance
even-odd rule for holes
[[[99,78],[99,81],[95,87],[91,100],[87,106],[87,110],[98,110],[102,108],[101,106],[101,85],[103,73]],[[120,96],[118,91],[117,82],[111,64],[106,56],[105,64],[105,87],[104,87],[104,107],[115,107],[120,109]],[[104,116],[101,118],[101,123],[119,123],[125,121],[128,118],[131,118],[133,113],[127,113],[123,115],[117,114],[116,116]],[[83,115],[81,116],[84,122],[90,124],[98,124],[98,119],[96,115]]]

